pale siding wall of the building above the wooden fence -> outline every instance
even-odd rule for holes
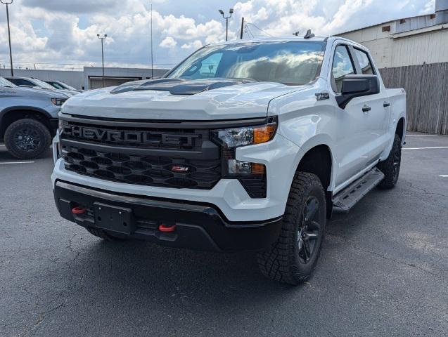
[[[390,32],[382,27],[390,25]],[[371,50],[380,68],[448,62],[448,24],[396,32],[399,21],[339,34]]]

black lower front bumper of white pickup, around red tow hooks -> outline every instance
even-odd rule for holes
[[[212,204],[111,193],[57,180],[54,197],[63,218],[83,227],[96,227],[94,204],[132,210],[132,230],[113,232],[123,239],[142,239],[165,246],[205,251],[267,249],[279,237],[281,217],[236,223]],[[89,211],[72,213],[75,206]],[[161,232],[159,225],[176,225],[174,232]]]

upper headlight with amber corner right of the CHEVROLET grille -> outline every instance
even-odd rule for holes
[[[267,124],[260,126],[244,126],[215,131],[215,138],[227,148],[267,143],[274,138],[277,129],[277,118],[269,117]]]

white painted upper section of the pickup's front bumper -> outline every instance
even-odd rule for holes
[[[56,180],[63,180],[110,193],[212,204],[226,219],[235,223],[262,222],[283,216],[295,169],[302,156],[302,151],[297,145],[279,134],[268,143],[238,147],[236,159],[264,164],[267,168],[267,197],[254,199],[236,179],[221,179],[211,190],[195,190],[134,185],[82,176],[65,169],[63,159],[58,158],[58,143],[59,138],[56,135],[53,139],[55,160],[51,175],[53,187],[56,185]]]

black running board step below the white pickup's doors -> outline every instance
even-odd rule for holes
[[[335,211],[350,211],[350,209],[357,204],[364,195],[373,190],[373,188],[381,183],[381,180],[383,179],[383,172],[375,167],[364,174],[364,176],[361,176],[361,178],[354,180],[353,183],[333,197],[333,207],[335,208]]]

